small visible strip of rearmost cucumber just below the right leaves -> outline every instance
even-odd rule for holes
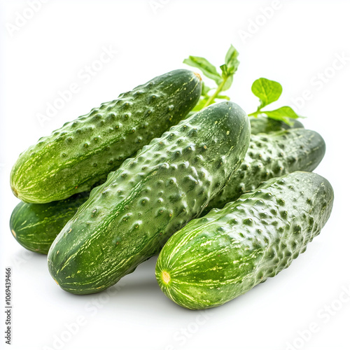
[[[269,132],[276,132],[281,130],[289,130],[289,129],[297,129],[300,127],[304,127],[299,120],[290,119],[290,123],[293,125],[288,125],[281,120],[274,120],[272,118],[267,118],[264,116],[260,116],[258,118],[249,117],[251,122],[251,134],[269,134]]]

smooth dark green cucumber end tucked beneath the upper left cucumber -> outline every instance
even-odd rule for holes
[[[66,200],[46,204],[20,202],[10,218],[13,237],[29,251],[47,254],[59,232],[89,195],[90,192],[77,193]]]

